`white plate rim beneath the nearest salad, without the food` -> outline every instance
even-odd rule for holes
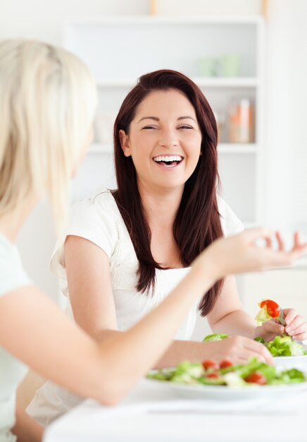
[[[292,383],[281,386],[206,386],[199,384],[184,384],[158,379],[148,379],[151,383],[156,383],[162,388],[168,388],[173,393],[177,393],[184,398],[194,399],[216,399],[216,400],[242,400],[251,398],[265,398],[268,396],[279,398],[284,395],[295,395],[303,390],[307,390],[307,382]]]

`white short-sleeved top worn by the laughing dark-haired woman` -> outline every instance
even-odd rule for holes
[[[219,198],[218,208],[225,236],[241,232],[242,222],[230,207]],[[161,302],[173,287],[189,272],[189,268],[156,270],[156,287],[153,297],[137,292],[138,261],[125,222],[120,215],[112,193],[101,191],[92,198],[73,206],[70,226],[66,235],[75,235],[92,241],[107,254],[110,260],[111,282],[115,302],[118,330],[127,330]],[[51,270],[63,280],[63,293],[68,295],[68,314],[73,316],[69,303],[63,241],[51,258]],[[189,340],[196,322],[197,303],[187,312],[175,338]],[[68,412],[81,399],[48,381],[37,390],[27,407],[27,413],[43,426]]]

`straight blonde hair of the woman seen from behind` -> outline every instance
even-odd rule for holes
[[[0,42],[0,216],[47,193],[61,231],[96,100],[77,56],[43,42]]]

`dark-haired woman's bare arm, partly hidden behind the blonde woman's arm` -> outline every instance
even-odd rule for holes
[[[100,342],[121,333],[117,330],[110,265],[106,253],[92,241],[68,236],[65,241],[65,268],[73,315],[80,327]],[[235,295],[233,297],[234,300],[238,299]],[[242,313],[250,327],[251,318],[243,311]],[[239,330],[230,334],[246,335]],[[225,342],[208,345],[203,342],[175,340],[163,357],[154,364],[154,368],[175,366],[184,359],[196,362],[213,357],[219,360],[231,358],[234,363],[247,362],[251,351],[265,362],[272,361],[270,354],[263,353],[263,346],[253,345],[249,340],[239,337],[228,341],[227,345]]]

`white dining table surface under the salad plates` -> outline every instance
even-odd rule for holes
[[[222,390],[215,390],[216,397],[194,397],[189,387],[182,391],[169,384],[144,378],[113,406],[84,400],[50,424],[43,441],[307,441],[306,386],[270,391],[258,386],[245,398],[232,393],[223,397]]]

